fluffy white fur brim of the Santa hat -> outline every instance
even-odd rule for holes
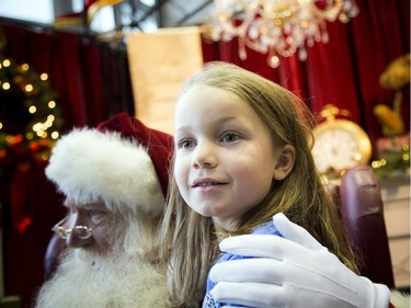
[[[118,133],[73,129],[53,148],[46,175],[77,203],[103,201],[158,215],[164,207],[147,150]]]

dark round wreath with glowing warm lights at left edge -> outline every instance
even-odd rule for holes
[[[0,56],[0,151],[16,141],[53,145],[62,126],[56,99],[47,73]]]

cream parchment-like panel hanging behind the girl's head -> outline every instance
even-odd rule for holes
[[[184,82],[203,66],[199,28],[129,33],[126,39],[136,116],[172,134],[176,99]]]

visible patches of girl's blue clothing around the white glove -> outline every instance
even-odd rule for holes
[[[254,230],[252,230],[251,235],[273,235],[281,237],[281,233],[277,231],[277,229],[274,227],[273,220],[266,221],[263,225],[256,227]],[[215,264],[230,261],[230,260],[241,260],[241,259],[251,259],[252,256],[244,256],[239,254],[232,254],[232,253],[225,253],[222,254]],[[220,303],[214,300],[209,292],[214,288],[216,283],[214,283],[208,275],[207,278],[207,290],[206,295],[204,296],[203,300],[203,308],[220,308],[224,306],[230,306],[230,307],[243,307],[236,304],[228,304],[228,303]]]

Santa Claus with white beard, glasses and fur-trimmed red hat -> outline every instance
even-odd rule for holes
[[[69,249],[36,307],[169,306],[156,231],[172,144],[126,114],[57,141],[46,175],[65,196],[54,231]]]

